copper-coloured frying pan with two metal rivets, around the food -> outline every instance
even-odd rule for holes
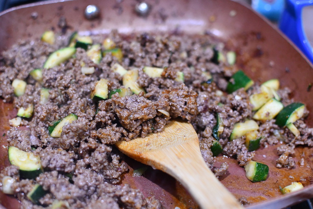
[[[0,13],[0,51],[8,49],[20,39],[35,39],[48,29],[58,29],[60,17],[66,18],[68,30],[80,30],[85,34],[108,33],[118,29],[121,33],[149,31],[183,31],[189,34],[209,33],[225,41],[229,49],[237,53],[236,65],[254,81],[263,82],[278,78],[282,87],[289,87],[295,101],[302,101],[313,111],[313,95],[308,86],[313,82],[312,65],[281,34],[275,26],[250,8],[230,0],[150,0],[148,16],[134,12],[135,0],[53,0],[12,8]],[[101,9],[100,17],[86,20],[84,10],[95,4]],[[8,119],[16,116],[12,104],[0,100],[0,169],[9,165],[5,137]],[[312,127],[308,116],[306,123]],[[4,145],[4,146],[3,146]],[[269,165],[269,177],[264,182],[252,183],[235,159],[218,156],[216,165],[227,161],[229,170],[220,180],[236,198],[246,197],[248,208],[283,208],[313,197],[313,149],[298,147],[295,154],[296,169],[277,169],[277,146],[257,150],[254,160]],[[298,164],[305,159],[305,166]],[[141,177],[131,173],[142,164],[125,158],[130,172],[123,183],[140,189],[145,196],[154,195],[165,208],[197,208],[195,201],[172,177],[161,171],[148,170]],[[281,195],[279,186],[301,181],[305,188],[288,195]],[[18,207],[12,196],[0,194],[0,203],[6,208]]]

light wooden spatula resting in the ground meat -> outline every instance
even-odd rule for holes
[[[179,180],[202,209],[243,208],[204,162],[198,135],[189,123],[171,121],[162,132],[115,145],[131,158]]]

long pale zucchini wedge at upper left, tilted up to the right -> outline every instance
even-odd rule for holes
[[[62,62],[71,58],[76,52],[74,47],[65,47],[59,50],[56,50],[51,55],[49,55],[47,61],[44,63],[44,68],[55,67]]]

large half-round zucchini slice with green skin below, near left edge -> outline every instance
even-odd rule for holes
[[[32,152],[25,152],[16,147],[8,148],[9,161],[19,168],[22,179],[34,179],[42,173],[41,160]]]

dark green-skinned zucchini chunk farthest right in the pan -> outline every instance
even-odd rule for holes
[[[276,124],[280,127],[284,127],[288,123],[294,123],[296,120],[301,118],[304,114],[305,105],[300,102],[294,102],[290,105],[287,105],[282,109],[277,117],[276,117]]]

